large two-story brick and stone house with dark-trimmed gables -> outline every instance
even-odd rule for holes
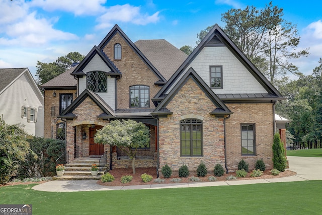
[[[81,63],[41,87],[44,136],[66,139],[68,162],[105,153],[111,168],[130,167],[93,137],[111,120],[133,119],[151,137],[137,167],[195,171],[204,162],[228,172],[241,159],[251,169],[258,159],[273,167],[274,105],[284,98],[218,25],[189,56],[166,40],[133,43],[115,25]]]

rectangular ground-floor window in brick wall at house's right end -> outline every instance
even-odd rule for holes
[[[255,124],[241,124],[241,155],[255,155]]]

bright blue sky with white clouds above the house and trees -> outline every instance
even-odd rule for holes
[[[284,9],[284,19],[297,25],[299,49],[310,55],[292,62],[311,74],[322,57],[322,1],[273,1]],[[86,55],[118,24],[133,41],[166,39],[176,47],[196,45],[197,33],[217,23],[229,9],[269,1],[109,1],[109,0],[0,0],[0,68],[29,67],[37,60],[52,62],[71,51]]]

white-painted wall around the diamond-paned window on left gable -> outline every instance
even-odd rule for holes
[[[105,64],[101,57],[96,54],[93,59],[83,69],[84,73],[89,71],[106,71],[111,69]],[[86,76],[79,78],[79,94],[86,89]],[[115,109],[115,78],[107,77],[107,93],[97,93],[113,110]]]

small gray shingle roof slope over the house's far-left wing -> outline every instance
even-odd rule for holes
[[[66,70],[64,73],[60,74],[56,78],[46,82],[45,84],[41,85],[42,88],[49,88],[49,87],[75,87],[77,85],[77,80],[74,79],[72,75],[72,71],[77,66],[71,67],[70,69]]]

